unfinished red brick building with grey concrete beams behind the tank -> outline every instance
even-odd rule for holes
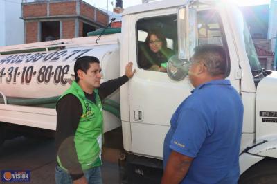
[[[22,2],[24,43],[84,37],[107,26],[107,13],[82,0]]]

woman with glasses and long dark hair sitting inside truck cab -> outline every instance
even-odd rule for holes
[[[150,31],[144,45],[139,44],[139,65],[141,68],[166,72],[168,59],[175,54],[166,45],[166,37],[157,30]]]

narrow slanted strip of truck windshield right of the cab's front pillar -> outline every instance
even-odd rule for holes
[[[247,57],[249,60],[249,64],[251,67],[252,75],[255,79],[262,79],[262,66],[260,66],[260,62],[258,59],[258,55],[255,50],[255,46],[253,44],[251,35],[249,33],[249,30],[247,28],[246,21],[244,20],[244,30],[243,30],[243,35],[244,35],[244,46],[245,50],[247,52]]]

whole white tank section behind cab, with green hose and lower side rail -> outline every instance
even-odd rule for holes
[[[120,34],[102,35],[98,43],[96,43],[98,36],[94,36],[0,47],[2,95],[0,95],[0,111],[8,112],[2,114],[1,120],[19,125],[55,129],[53,108],[57,98],[70,86],[66,79],[74,75],[73,68],[78,57],[84,55],[98,57],[102,68],[101,82],[119,77],[119,36]],[[26,53],[26,50],[38,49],[51,51]],[[13,54],[7,55],[7,53]],[[3,104],[5,103],[3,96],[7,98],[8,105]],[[105,132],[121,125],[119,103],[119,90],[102,102]],[[34,116],[31,114],[31,109]],[[46,115],[42,116],[44,113]]]

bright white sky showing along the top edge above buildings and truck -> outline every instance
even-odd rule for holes
[[[107,6],[109,11],[112,11],[113,5],[116,6],[116,0],[84,0],[87,3],[95,6],[96,8],[102,8],[107,10]],[[185,2],[186,0],[184,0]],[[229,0],[230,1],[230,0]],[[142,0],[123,0],[123,8],[127,8],[129,6],[134,6],[141,4]],[[258,4],[269,4],[270,0],[233,0],[233,2],[237,3],[238,6],[251,6],[251,5],[258,5]]]

